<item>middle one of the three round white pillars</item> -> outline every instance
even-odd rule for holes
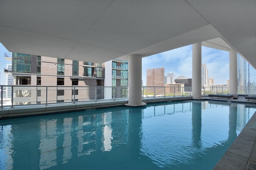
[[[202,98],[202,43],[192,46],[192,98]]]

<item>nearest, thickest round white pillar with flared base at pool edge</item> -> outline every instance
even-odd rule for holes
[[[130,107],[144,107],[142,102],[142,56],[130,55],[128,60],[128,104]]]

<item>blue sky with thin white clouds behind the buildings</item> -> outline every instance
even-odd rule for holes
[[[4,68],[6,68],[6,64],[11,64],[11,62],[4,59],[4,53],[10,52],[0,43],[0,84],[6,84]],[[226,84],[226,81],[229,79],[228,52],[202,46],[202,63],[206,64],[208,77],[214,78],[214,84]],[[165,76],[167,73],[173,72],[175,77],[186,76],[192,78],[192,45],[144,57],[142,59],[142,80],[144,86],[146,86],[146,70],[160,67],[164,67]]]

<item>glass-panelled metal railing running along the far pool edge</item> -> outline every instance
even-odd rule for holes
[[[20,106],[38,104],[56,104],[59,102],[86,102],[97,100],[116,100],[128,98],[128,87],[104,86],[0,86],[0,106]],[[4,91],[6,90],[6,91]],[[11,92],[11,98],[6,94]],[[8,91],[8,92],[7,92]],[[250,87],[250,94],[256,94],[256,88]],[[142,98],[192,96],[191,87],[143,86]],[[202,95],[228,94],[227,87],[205,87]]]

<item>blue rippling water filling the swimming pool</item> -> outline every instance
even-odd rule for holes
[[[212,169],[256,111],[208,101],[0,121],[0,169]]]

